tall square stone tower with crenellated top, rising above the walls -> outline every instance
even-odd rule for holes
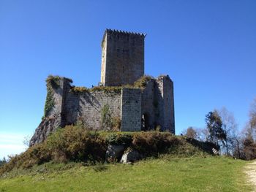
[[[144,74],[146,34],[106,29],[102,39],[101,84],[132,84]]]

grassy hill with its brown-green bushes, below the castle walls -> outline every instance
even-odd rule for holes
[[[137,150],[134,164],[103,164],[108,145]],[[247,161],[211,155],[208,142],[158,131],[67,126],[0,167],[3,191],[252,191]],[[216,147],[216,146],[215,146]]]

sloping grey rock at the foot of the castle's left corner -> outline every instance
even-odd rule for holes
[[[29,146],[45,141],[46,137],[61,125],[60,118],[43,118],[29,142]]]

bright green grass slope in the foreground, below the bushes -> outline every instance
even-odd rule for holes
[[[244,175],[247,163],[170,155],[133,165],[48,163],[19,175],[13,170],[0,179],[0,191],[252,191]]]

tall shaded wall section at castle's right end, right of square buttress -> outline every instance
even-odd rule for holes
[[[173,82],[169,76],[150,80],[142,93],[141,114],[145,118],[145,130],[161,128],[175,134]]]

